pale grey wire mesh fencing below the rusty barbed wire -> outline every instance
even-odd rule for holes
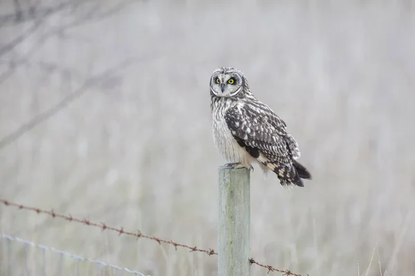
[[[97,266],[98,275],[100,275],[99,271],[100,271],[101,266],[104,266],[104,267],[108,267],[108,268],[113,268],[117,271],[122,270],[122,271],[125,271],[127,273],[131,273],[131,274],[136,275],[136,276],[148,276],[148,275],[142,274],[142,273],[140,273],[136,270],[130,270],[128,268],[122,268],[120,266],[115,266],[113,264],[107,264],[107,263],[104,263],[102,261],[97,261],[95,259],[89,259],[89,258],[82,257],[82,256],[79,256],[79,255],[73,255],[73,254],[68,253],[66,251],[58,250],[58,249],[55,249],[53,247],[45,246],[43,244],[35,244],[34,242],[30,242],[30,241],[27,241],[25,239],[21,239],[19,237],[12,237],[10,235],[0,234],[0,239],[7,239],[8,240],[8,244],[7,244],[7,246],[8,246],[8,248],[7,248],[7,250],[8,250],[8,270],[9,270],[9,273],[11,275],[12,275],[12,262],[11,262],[12,253],[11,253],[11,244],[10,244],[10,242],[19,242],[20,244],[24,244],[24,246],[25,246],[24,247],[24,265],[25,265],[24,270],[25,270],[25,275],[28,275],[28,246],[32,246],[34,248],[39,248],[39,249],[42,250],[42,268],[43,268],[44,275],[46,275],[46,251],[48,251],[48,252],[59,254],[59,275],[63,275],[63,262],[64,262],[63,259],[64,259],[64,256],[65,256],[65,257],[69,257],[71,259],[77,260],[77,274],[76,275],[80,275],[79,265],[80,265],[80,262],[84,261],[84,262],[91,262],[91,263],[95,264]]]

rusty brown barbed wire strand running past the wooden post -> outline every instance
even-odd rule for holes
[[[137,232],[134,233],[134,232],[131,232],[131,231],[124,230],[124,227],[116,228],[116,227],[113,227],[113,226],[108,226],[104,222],[98,223],[98,222],[91,221],[89,219],[78,219],[76,217],[72,217],[72,215],[62,215],[62,214],[59,214],[59,213],[55,213],[55,211],[53,209],[50,210],[50,211],[42,210],[40,208],[25,206],[23,204],[17,204],[15,202],[8,201],[6,199],[0,199],[0,203],[2,203],[4,206],[17,207],[19,210],[29,210],[29,211],[35,212],[37,214],[49,215],[53,219],[59,217],[60,219],[65,219],[66,221],[70,221],[70,222],[75,221],[77,223],[84,224],[86,226],[94,226],[94,227],[97,227],[97,228],[101,228],[102,231],[111,230],[113,232],[118,233],[118,235],[129,235],[129,236],[136,237],[136,239],[140,239],[140,238],[151,239],[155,242],[158,242],[158,244],[170,244],[170,245],[174,246],[174,248],[176,250],[177,250],[178,247],[182,247],[182,248],[190,249],[189,252],[197,251],[197,252],[207,253],[208,255],[218,255],[218,253],[216,253],[216,251],[213,250],[213,249],[201,249],[201,248],[197,248],[197,246],[187,246],[186,244],[180,244],[180,243],[174,242],[172,240],[160,239],[159,237],[144,235],[140,232],[140,230],[137,230]],[[256,264],[257,266],[261,266],[262,268],[268,269],[268,273],[270,273],[272,271],[272,272],[282,273],[283,275],[302,276],[301,274],[292,273],[288,269],[281,270],[281,269],[278,269],[278,268],[273,268],[273,266],[268,266],[266,264],[260,264],[259,262],[255,261],[255,259],[252,259],[252,258],[249,259],[249,263],[251,265]]]

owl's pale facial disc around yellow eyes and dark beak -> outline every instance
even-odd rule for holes
[[[242,81],[238,72],[216,70],[210,79],[210,90],[216,97],[232,97],[241,91]]]

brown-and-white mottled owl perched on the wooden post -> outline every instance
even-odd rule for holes
[[[210,78],[210,110],[214,144],[230,163],[228,168],[250,168],[257,162],[277,174],[282,186],[304,187],[311,179],[299,164],[297,141],[286,123],[250,91],[240,70],[223,67]]]

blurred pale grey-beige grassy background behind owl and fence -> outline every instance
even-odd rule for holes
[[[303,275],[414,275],[414,8],[1,1],[0,195],[216,249],[225,161],[208,84],[233,66],[286,121],[313,174],[288,190],[252,173],[252,257]],[[0,231],[149,275],[217,275],[214,256],[4,206]]]

